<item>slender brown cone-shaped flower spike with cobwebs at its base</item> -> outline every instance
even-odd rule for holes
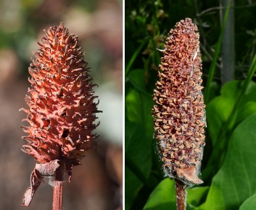
[[[186,184],[200,184],[206,122],[198,28],[190,18],[181,20],[164,46],[152,110],[163,171]]]

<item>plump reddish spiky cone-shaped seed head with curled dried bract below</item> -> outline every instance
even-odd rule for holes
[[[24,194],[22,205],[28,206],[44,176],[62,181],[63,171],[69,180],[72,167],[81,164],[87,150],[95,147],[92,131],[99,112],[94,102],[85,53],[77,44],[77,36],[70,34],[61,23],[45,31],[40,49],[30,64],[30,89],[26,95],[28,127],[24,127],[27,144],[22,150],[33,156],[36,164],[31,186]]]

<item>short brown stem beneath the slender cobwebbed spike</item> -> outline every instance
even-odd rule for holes
[[[175,179],[177,210],[186,210],[186,188],[184,182]]]

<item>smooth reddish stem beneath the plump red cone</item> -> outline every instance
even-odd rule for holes
[[[53,210],[62,210],[64,162],[60,161],[59,163],[60,166],[56,169],[53,184]]]

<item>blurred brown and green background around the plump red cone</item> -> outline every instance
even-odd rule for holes
[[[33,158],[20,150],[28,66],[35,43],[50,26],[79,37],[98,84],[98,147],[74,167],[64,184],[63,209],[117,209],[122,205],[122,1],[0,1],[0,209],[51,209],[52,188],[42,184],[30,207],[21,207],[30,186]]]

